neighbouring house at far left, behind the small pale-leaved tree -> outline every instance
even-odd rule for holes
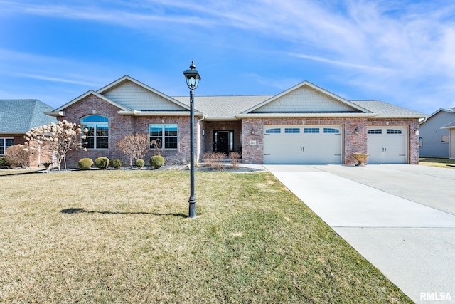
[[[36,99],[0,100],[0,157],[8,147],[23,145],[28,130],[57,122],[55,117],[45,115],[51,110],[52,107]],[[31,167],[37,167],[40,161],[36,155]]]

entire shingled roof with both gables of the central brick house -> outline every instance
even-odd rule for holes
[[[65,115],[65,108],[97,95],[119,108],[120,115],[171,116],[189,115],[189,96],[171,97],[124,75],[97,90],[53,110],[48,115]],[[304,81],[277,95],[199,96],[194,100],[196,115],[205,120],[240,120],[246,117],[377,117],[422,118],[414,110],[379,100],[352,101]]]

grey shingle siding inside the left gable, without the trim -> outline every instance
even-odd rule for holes
[[[145,111],[182,111],[186,110],[170,100],[141,88],[141,86],[130,81],[124,82],[116,88],[103,93],[110,100],[124,105],[132,110]]]

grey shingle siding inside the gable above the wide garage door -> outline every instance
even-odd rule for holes
[[[267,103],[252,113],[293,112],[358,112],[313,88],[303,87]]]

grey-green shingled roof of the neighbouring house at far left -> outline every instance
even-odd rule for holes
[[[44,112],[53,110],[36,99],[0,100],[0,133],[25,134],[33,127],[57,122]]]

